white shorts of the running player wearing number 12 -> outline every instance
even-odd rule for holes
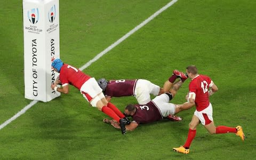
[[[212,118],[212,104],[209,103],[209,106],[207,108],[205,108],[204,110],[201,110],[201,111],[196,110],[194,112],[194,115],[199,118],[199,120],[201,121],[201,123],[203,125],[210,124],[213,121],[213,118]]]

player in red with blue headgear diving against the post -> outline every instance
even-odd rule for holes
[[[73,66],[63,63],[60,59],[55,59],[52,62],[52,67],[60,73],[59,78],[51,85],[52,90],[67,94],[69,90],[68,85],[75,86],[93,107],[97,107],[100,111],[119,122],[122,134],[126,133],[125,124],[130,122],[127,121],[127,118],[115,105],[106,100],[95,78],[84,74]],[[57,87],[59,83],[61,83],[62,87]]]

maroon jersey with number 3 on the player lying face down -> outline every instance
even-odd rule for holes
[[[132,122],[145,124],[163,119],[162,114],[153,101],[148,102],[147,105],[135,105],[135,107],[137,110],[132,116]]]

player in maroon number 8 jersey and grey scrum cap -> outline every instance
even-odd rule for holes
[[[119,79],[107,81],[105,78],[101,78],[99,79],[98,84],[108,101],[110,101],[112,97],[133,95],[137,99],[139,105],[144,105],[150,102],[150,94],[156,96],[170,92],[170,89],[177,78],[181,78],[182,82],[187,79],[185,74],[178,70],[173,70],[172,76],[164,83],[163,88],[146,79]]]

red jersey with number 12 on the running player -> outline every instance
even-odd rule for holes
[[[201,111],[209,106],[209,87],[213,85],[210,77],[198,75],[189,83],[189,94],[195,94],[196,110]]]

